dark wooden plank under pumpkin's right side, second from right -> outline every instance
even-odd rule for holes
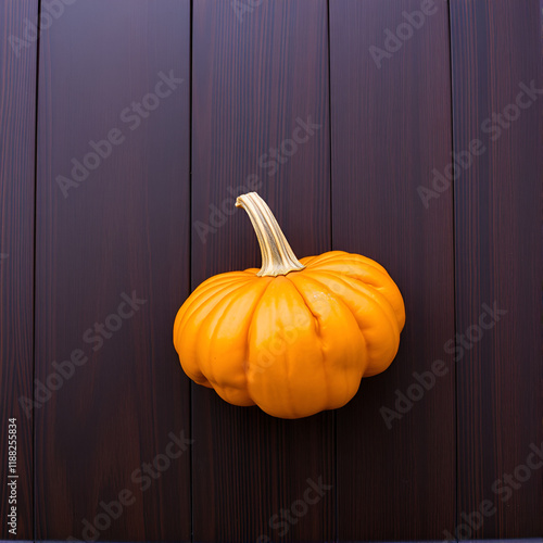
[[[455,514],[452,192],[427,209],[418,189],[451,161],[446,4],[331,0],[330,92],[333,249],[380,262],[406,306],[396,359],[338,412],[339,539],[438,540]]]

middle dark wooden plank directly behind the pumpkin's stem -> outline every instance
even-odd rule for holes
[[[195,2],[192,65],[192,288],[260,265],[250,222],[233,209],[251,188],[299,256],[328,250],[326,2]],[[331,413],[280,420],[195,384],[192,413],[194,541],[333,539]],[[298,516],[307,479],[331,489]]]

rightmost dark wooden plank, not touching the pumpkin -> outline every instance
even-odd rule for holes
[[[464,539],[543,533],[540,24],[538,0],[451,2],[454,147],[481,150],[455,184]]]

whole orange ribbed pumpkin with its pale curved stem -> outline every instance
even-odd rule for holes
[[[346,404],[384,371],[405,323],[402,295],[377,262],[343,251],[299,261],[256,192],[238,198],[262,269],[211,277],[182,304],[174,345],[185,372],[227,402],[300,418]]]

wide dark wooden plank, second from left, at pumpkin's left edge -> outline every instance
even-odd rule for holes
[[[188,0],[78,0],[41,39],[40,540],[190,539],[172,345],[189,289],[189,61]]]

